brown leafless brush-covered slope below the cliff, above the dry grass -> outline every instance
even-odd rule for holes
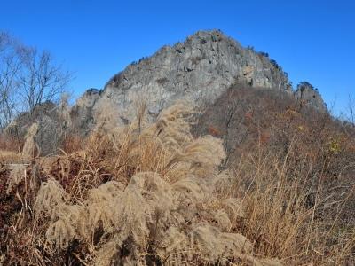
[[[336,223],[355,225],[352,124],[319,112],[301,98],[236,83],[201,114],[193,131],[224,139],[225,164],[230,167],[260,154],[287,158],[289,181],[305,178],[306,205],[317,207],[319,219],[334,223],[329,214],[336,202],[343,202]]]

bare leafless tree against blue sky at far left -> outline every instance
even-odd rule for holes
[[[20,112],[33,112],[66,90],[71,74],[48,51],[38,51],[0,32],[0,128]]]

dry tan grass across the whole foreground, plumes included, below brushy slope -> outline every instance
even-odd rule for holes
[[[144,109],[124,127],[103,110],[80,152],[1,168],[1,192],[12,192],[0,199],[2,263],[353,263],[355,232],[340,219],[352,190],[325,197],[297,145],[260,146],[223,169],[222,141],[190,133],[192,106],[179,102],[154,123]]]

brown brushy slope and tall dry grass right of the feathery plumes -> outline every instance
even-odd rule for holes
[[[243,199],[238,230],[256,254],[292,265],[354,263],[353,126],[280,91],[241,85],[202,114],[196,135],[211,124],[234,170],[225,193]]]

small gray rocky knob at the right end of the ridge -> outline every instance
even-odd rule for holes
[[[308,82],[301,82],[297,85],[295,97],[297,100],[302,101],[305,106],[312,106],[321,113],[327,112],[327,105],[318,90]]]

